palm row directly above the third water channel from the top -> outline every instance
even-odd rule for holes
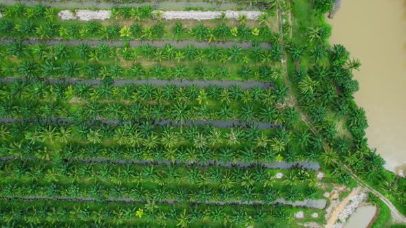
[[[224,66],[220,63],[213,65],[199,64],[194,67],[186,65],[176,65],[166,67],[160,64],[143,67],[136,63],[131,67],[120,67],[120,65],[106,65],[98,63],[65,61],[58,63],[54,61],[44,61],[37,63],[25,60],[21,63],[4,62],[0,69],[3,76],[21,77],[28,80],[38,80],[45,78],[83,78],[83,79],[180,79],[180,80],[262,80],[275,81],[279,79],[281,68],[271,68],[268,66],[232,67]]]

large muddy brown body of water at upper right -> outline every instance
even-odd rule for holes
[[[406,174],[406,0],[342,0],[330,43],[341,43],[363,63],[356,102],[367,111],[367,137],[386,160]]]

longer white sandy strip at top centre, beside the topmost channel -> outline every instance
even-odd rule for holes
[[[247,19],[257,20],[259,15],[263,12],[253,10],[226,10],[226,11],[158,11],[154,10],[153,14],[160,12],[162,19],[175,20],[175,19],[193,19],[197,21],[218,19],[222,16],[222,13],[226,14],[227,19],[238,19],[239,16],[245,15]]]

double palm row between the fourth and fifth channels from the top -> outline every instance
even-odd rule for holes
[[[315,160],[323,146],[323,141],[310,137],[308,132],[291,135],[286,130],[279,130],[277,135],[271,137],[255,127],[220,130],[205,126],[203,129],[206,130],[200,131],[194,126],[187,126],[183,130],[164,126],[160,128],[169,130],[157,132],[148,125],[132,131],[107,124],[98,128],[86,124],[76,128],[55,125],[29,128],[28,125],[2,124],[0,136],[5,146],[1,152],[3,157],[44,159],[45,156],[54,161],[101,157],[112,161],[135,159],[203,164],[209,163],[209,160],[222,163],[273,163],[282,160]],[[76,144],[75,141],[81,143]],[[107,146],[106,141],[110,146]],[[47,153],[37,148],[40,145],[62,149]]]

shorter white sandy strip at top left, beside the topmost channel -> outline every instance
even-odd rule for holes
[[[58,12],[58,16],[63,20],[79,20],[79,21],[92,21],[92,20],[106,20],[110,19],[110,10],[62,10]]]

